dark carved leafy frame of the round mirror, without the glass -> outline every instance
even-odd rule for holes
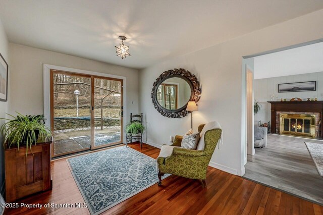
[[[165,71],[162,74],[160,74],[159,77],[156,79],[156,81],[153,83],[153,87],[151,90],[151,98],[155,109],[164,117],[169,117],[169,118],[185,117],[187,116],[187,113],[189,113],[186,111],[186,106],[188,102],[177,110],[168,110],[168,109],[165,109],[163,106],[161,106],[157,101],[157,89],[159,85],[163,83],[165,80],[170,78],[184,79],[191,88],[191,96],[189,100],[195,101],[195,102],[197,102],[200,99],[200,95],[201,95],[200,83],[198,82],[194,74],[191,74],[189,71],[186,71],[185,69],[174,69],[174,70]]]

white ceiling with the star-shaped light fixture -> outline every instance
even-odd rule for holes
[[[14,43],[144,68],[323,8],[322,0],[0,0]],[[131,56],[116,56],[119,35]]]

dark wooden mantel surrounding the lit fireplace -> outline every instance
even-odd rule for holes
[[[323,101],[268,101],[272,104],[272,128],[276,133],[276,112],[308,112],[320,113],[323,117]],[[323,126],[320,128],[320,138],[323,138]]]

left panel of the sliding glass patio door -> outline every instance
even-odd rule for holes
[[[51,71],[52,156],[91,147],[91,78]]]

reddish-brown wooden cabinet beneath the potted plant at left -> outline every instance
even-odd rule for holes
[[[5,147],[6,201],[51,189],[50,144],[37,143],[26,155],[26,146]]]

